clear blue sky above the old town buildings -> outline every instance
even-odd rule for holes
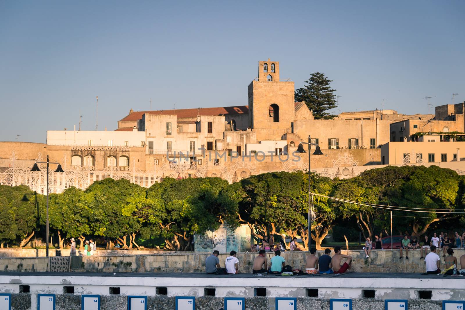
[[[463,0],[62,2],[0,2],[1,141],[45,142],[80,113],[94,130],[97,95],[99,130],[150,98],[246,105],[267,58],[296,87],[325,73],[341,112],[465,100]]]

